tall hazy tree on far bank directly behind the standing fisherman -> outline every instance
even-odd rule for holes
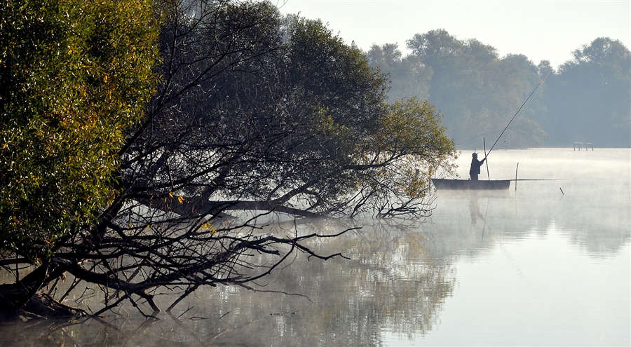
[[[447,134],[465,147],[498,137],[539,79],[525,57],[499,58],[492,46],[461,41],[444,29],[416,34],[407,41],[412,54],[433,69],[428,100],[445,114]],[[506,133],[507,146],[543,143],[545,132],[529,113]]]

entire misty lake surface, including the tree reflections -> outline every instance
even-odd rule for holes
[[[159,320],[125,307],[4,323],[0,346],[629,346],[630,149],[496,150],[490,178],[515,178],[517,163],[517,178],[542,180],[437,191],[422,220],[297,224],[362,229],[312,244],[350,260],[298,254],[259,282],[270,292],[205,288]]]

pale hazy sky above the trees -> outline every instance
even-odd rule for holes
[[[456,39],[477,39],[501,57],[523,54],[558,67],[571,52],[608,36],[631,48],[631,1],[396,1],[273,0],[281,13],[320,18],[347,44],[368,50],[414,34],[446,29]]]

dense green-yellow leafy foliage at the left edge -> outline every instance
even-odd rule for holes
[[[0,254],[29,261],[94,222],[154,88],[149,1],[0,4]]]

